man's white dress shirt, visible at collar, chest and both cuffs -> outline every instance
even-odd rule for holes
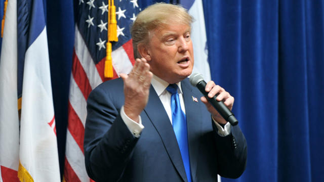
[[[152,84],[157,96],[159,97],[161,103],[163,104],[163,107],[166,110],[166,112],[168,114],[168,117],[170,119],[170,122],[172,124],[171,94],[166,89],[169,86],[169,83],[164,81],[163,79],[160,79],[159,77],[153,75],[153,78],[151,80],[151,84]],[[179,100],[180,100],[181,109],[186,114],[185,106],[184,106],[184,102],[183,102],[183,97],[182,97],[181,82],[178,82],[176,84],[178,85],[178,94],[179,94]],[[135,137],[139,137],[141,131],[144,129],[144,126],[142,125],[141,116],[139,116],[139,123],[135,122],[134,120],[132,120],[131,118],[129,118],[125,114],[124,106],[121,107],[120,116],[124,120],[124,122],[127,125],[128,129],[133,133],[133,135]],[[231,125],[230,125],[229,122],[227,122],[225,124],[224,128],[223,128],[214,119],[213,119],[213,121],[216,124],[219,135],[226,136],[231,132]]]

